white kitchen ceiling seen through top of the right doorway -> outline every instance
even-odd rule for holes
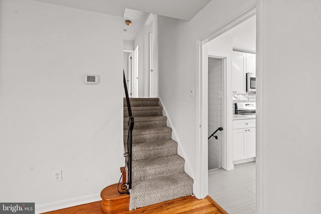
[[[226,33],[222,34],[233,38],[233,50],[247,53],[256,53],[256,16],[242,22]]]

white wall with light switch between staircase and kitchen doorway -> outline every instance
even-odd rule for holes
[[[212,1],[190,22],[158,16],[157,50],[159,96],[162,98],[191,163],[195,178],[195,195],[204,197],[199,144],[198,119],[198,42],[200,39],[255,4],[253,0]],[[190,97],[191,89],[194,97]]]

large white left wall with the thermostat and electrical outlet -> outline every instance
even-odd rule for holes
[[[0,201],[99,199],[124,164],[122,18],[0,4]],[[85,84],[88,73],[99,84]],[[53,182],[57,169],[63,180]]]

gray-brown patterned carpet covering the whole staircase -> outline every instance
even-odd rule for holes
[[[132,132],[132,188],[129,210],[192,194],[194,180],[184,171],[167,117],[158,98],[130,98]],[[124,148],[127,150],[128,109],[124,98]]]

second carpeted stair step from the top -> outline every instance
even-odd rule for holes
[[[162,106],[138,106],[131,107],[133,117],[163,116]],[[128,108],[124,107],[124,117],[128,117]]]

